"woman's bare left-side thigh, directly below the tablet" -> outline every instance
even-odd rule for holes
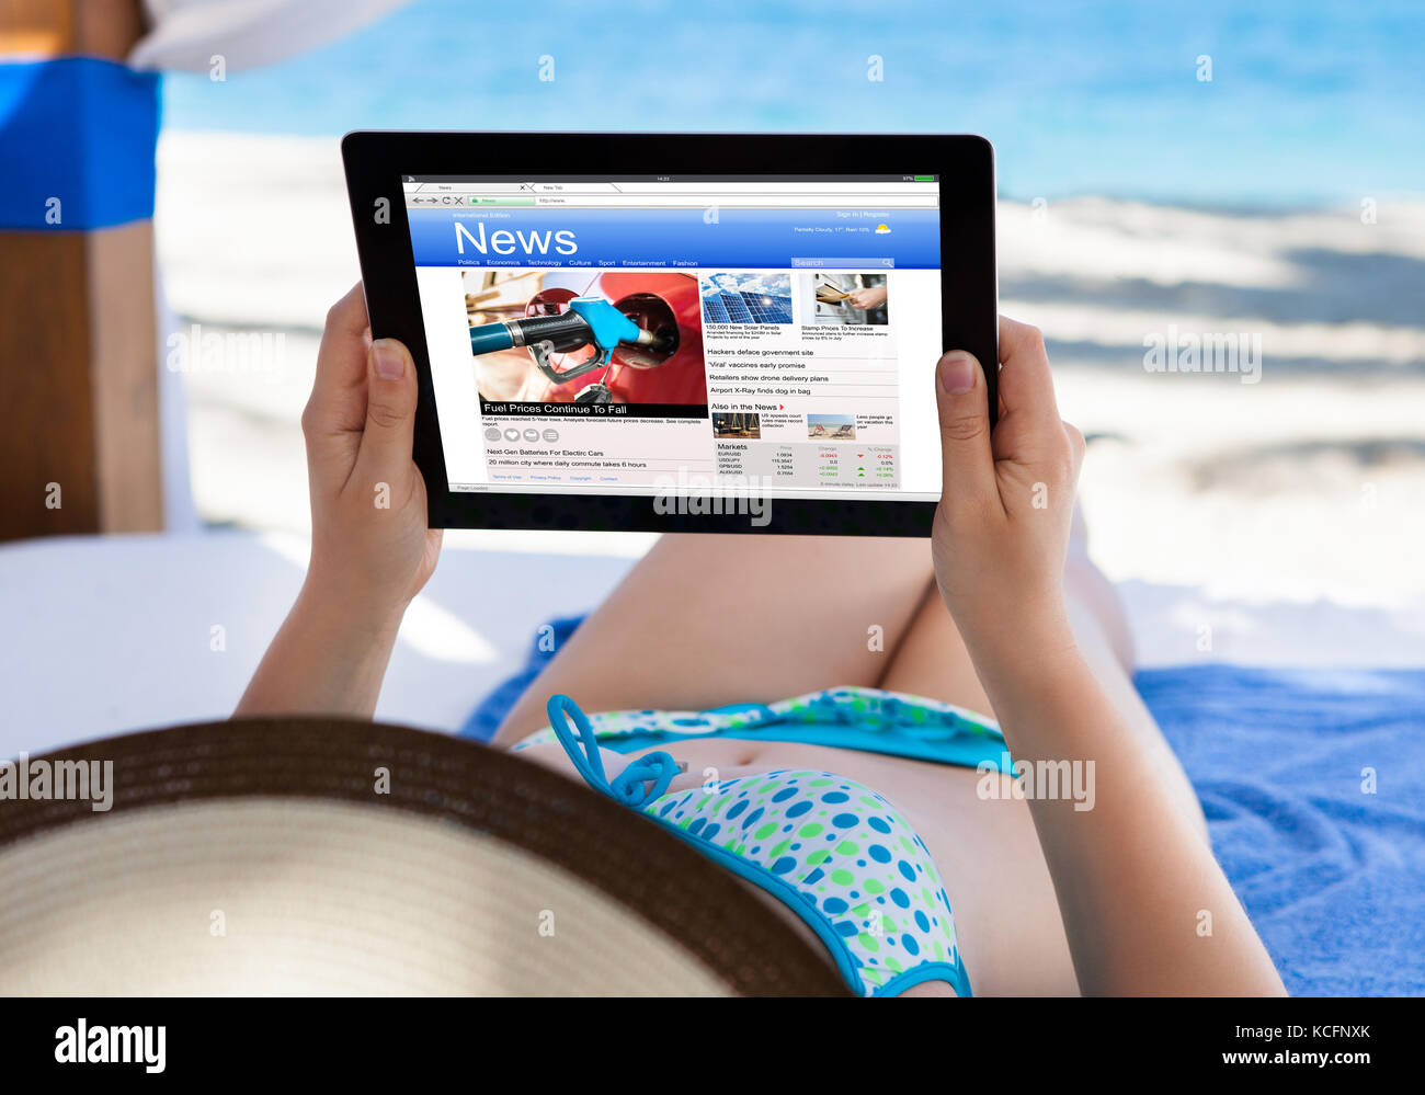
[[[928,540],[668,535],[574,632],[496,744],[589,711],[700,710],[872,686],[931,585]]]

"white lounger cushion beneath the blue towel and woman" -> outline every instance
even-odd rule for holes
[[[631,565],[447,546],[402,626],[378,717],[459,729],[523,664],[540,623],[593,607]],[[239,532],[0,548],[0,757],[227,717],[305,566],[304,539]],[[1121,592],[1144,667],[1425,664],[1419,613],[1208,602],[1139,582]]]

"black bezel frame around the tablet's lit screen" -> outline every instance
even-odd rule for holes
[[[453,492],[446,478],[403,175],[549,174],[935,174],[940,180],[940,344],[998,362],[995,151],[976,135],[725,134],[725,133],[393,133],[342,138],[346,188],[375,338],[410,348],[420,379],[415,459],[426,480],[430,526],[452,529],[591,529],[636,532],[765,532],[838,536],[928,536],[933,502],[774,498],[767,523],[745,513],[658,513],[647,495]],[[574,170],[574,168],[571,168]],[[950,261],[953,257],[953,261]],[[931,369],[926,366],[926,398]],[[999,399],[986,368],[990,419]]]

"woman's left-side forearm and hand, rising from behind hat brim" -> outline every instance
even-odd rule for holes
[[[326,315],[302,413],[312,495],[306,580],[235,716],[369,719],[410,599],[435,570],[426,486],[410,458],[416,371],[399,342],[370,341],[361,285]]]

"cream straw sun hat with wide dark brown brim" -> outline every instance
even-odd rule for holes
[[[13,797],[66,761],[100,777],[88,800]],[[443,734],[211,723],[6,774],[0,995],[845,994],[653,821]]]

